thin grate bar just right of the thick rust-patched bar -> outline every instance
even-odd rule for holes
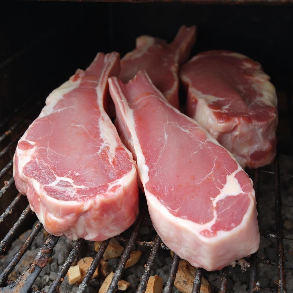
[[[72,250],[69,253],[65,263],[62,265],[62,269],[58,272],[58,275],[57,275],[56,279],[54,280],[54,282],[53,282],[51,288],[49,289],[48,293],[58,292],[59,286],[63,281],[62,279],[67,274],[70,266],[74,262],[74,259],[78,255],[78,253],[81,250],[81,247],[84,245],[84,243],[85,243],[85,240],[82,239],[82,238],[79,238],[76,241],[76,244],[75,244],[74,248],[72,248]]]

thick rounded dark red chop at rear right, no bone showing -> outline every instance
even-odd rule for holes
[[[259,63],[238,53],[208,51],[180,70],[188,116],[231,151],[243,167],[276,154],[277,96]]]

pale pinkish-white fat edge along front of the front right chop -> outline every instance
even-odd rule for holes
[[[145,194],[151,220],[162,241],[180,258],[188,260],[197,268],[204,268],[207,271],[219,270],[230,265],[232,261],[258,250],[260,234],[258,225],[255,225],[257,213],[253,199],[237,227],[230,231],[218,231],[217,236],[208,238],[199,234],[200,224],[175,217],[154,195],[147,191]],[[237,247],[236,251],[241,253],[236,253],[231,247],[232,244]]]

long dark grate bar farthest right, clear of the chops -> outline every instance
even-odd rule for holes
[[[286,293],[286,273],[285,258],[282,233],[282,198],[280,188],[280,168],[278,153],[275,158],[275,213],[276,213],[276,232],[277,232],[277,253],[278,253],[278,292]]]

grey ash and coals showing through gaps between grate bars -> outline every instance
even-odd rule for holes
[[[287,157],[280,157],[281,174],[290,174],[290,168],[292,166],[292,159],[288,160]],[[263,170],[273,171],[273,166],[267,166]],[[251,178],[253,178],[253,171],[250,172]],[[285,205],[293,206],[293,178],[288,176],[281,176],[281,186],[282,186],[282,199]],[[260,194],[259,194],[259,227],[260,234],[275,234],[275,189],[274,189],[274,175],[264,172],[260,172]],[[148,218],[148,216],[147,216]],[[143,241],[154,240],[155,231],[154,228],[147,224],[142,226],[138,239]],[[293,238],[293,207],[284,206],[283,207],[283,236],[287,238]],[[122,233],[122,236],[129,237],[133,230],[133,226],[127,231]],[[14,253],[18,251],[22,243],[28,237],[30,233],[26,231],[22,234],[19,239],[13,242],[12,248],[8,251],[7,255],[0,259],[0,269],[7,266],[8,262],[13,257]],[[21,261],[16,265],[9,279],[15,280],[26,266],[30,263],[33,257],[38,253],[40,247],[47,239],[47,232],[42,229],[35,241],[33,242],[30,249],[25,253]],[[37,289],[43,289],[48,292],[50,286],[52,285],[58,271],[62,268],[64,261],[66,260],[68,254],[73,248],[75,241],[71,241],[66,237],[60,237],[57,245],[54,248],[54,253],[50,260],[50,263],[43,268],[42,272],[36,279],[33,287]],[[125,247],[125,243],[121,243]],[[140,277],[144,272],[144,265],[147,263],[147,258],[150,252],[149,247],[144,246],[134,246],[134,250],[141,250],[142,256],[138,263],[130,268],[124,270],[122,279],[130,283],[130,287],[127,292],[135,292],[139,284]],[[196,249],[196,247],[195,247]],[[293,270],[290,267],[293,265],[293,241],[284,240],[284,252],[285,252],[285,262],[286,262],[286,277],[287,277],[287,292],[293,292]],[[86,241],[85,245],[81,249],[79,255],[76,257],[75,263],[83,257],[95,256],[93,241]],[[276,292],[277,282],[278,282],[278,272],[277,272],[277,249],[276,249],[276,239],[272,237],[264,238],[261,236],[260,248],[258,251],[258,258],[260,260],[270,261],[270,265],[259,263],[258,266],[258,281],[260,284],[261,292],[270,293]],[[108,260],[108,266],[110,270],[115,272],[120,258],[113,258]],[[154,262],[154,266],[151,270],[151,275],[159,275],[163,279],[164,285],[168,279],[168,273],[171,267],[172,258],[169,251],[160,248],[159,253]],[[229,267],[229,281],[228,281],[228,293],[246,293],[249,292],[249,279],[250,279],[250,267],[249,258],[245,260],[236,261]],[[73,263],[73,265],[75,264]],[[246,271],[245,271],[246,270]],[[208,280],[212,292],[218,292],[220,286],[221,271],[214,272],[204,272],[204,277]],[[103,282],[103,277],[98,276],[91,280],[89,286],[87,287],[87,293],[98,292],[100,285]],[[62,285],[60,286],[60,292],[76,292],[78,286],[69,285],[67,276],[64,278]],[[173,292],[178,293],[178,290],[174,287]]]

